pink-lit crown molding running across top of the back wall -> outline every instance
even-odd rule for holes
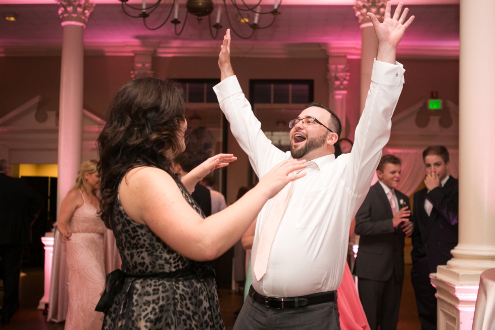
[[[134,56],[149,54],[158,57],[218,57],[218,45],[182,42],[180,44],[161,44],[143,46],[141,44],[84,44],[85,56]],[[61,56],[60,44],[3,44],[0,56]],[[237,45],[232,49],[232,57],[257,58],[361,58],[360,43],[307,43],[297,45]],[[397,58],[411,60],[458,60],[459,44],[421,45],[402,44],[397,50]]]

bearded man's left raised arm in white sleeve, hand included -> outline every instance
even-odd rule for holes
[[[244,97],[230,64],[230,29],[227,29],[218,56],[220,83],[213,89],[220,108],[230,123],[230,130],[242,150],[248,154],[255,173],[261,178],[273,166],[290,159],[261,130],[261,123],[253,114],[251,104]]]

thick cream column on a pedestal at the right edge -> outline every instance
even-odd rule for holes
[[[459,244],[430,275],[440,330],[471,329],[479,276],[495,267],[494,12],[493,0],[460,2]]]

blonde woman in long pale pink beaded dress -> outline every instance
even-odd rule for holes
[[[105,285],[105,233],[100,211],[100,174],[97,161],[81,164],[76,185],[60,206],[57,229],[66,242],[69,307],[67,330],[102,328],[103,314],[94,308]]]

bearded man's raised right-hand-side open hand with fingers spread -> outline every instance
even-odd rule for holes
[[[405,8],[401,15],[402,6],[403,3],[399,3],[393,13],[393,17],[390,17],[391,4],[390,2],[387,2],[383,23],[380,23],[374,14],[367,13],[373,23],[376,38],[378,39],[377,61],[395,64],[395,51],[397,50],[397,45],[404,36],[406,29],[414,21],[414,16],[411,16],[406,21],[406,16],[409,12],[408,8]]]

